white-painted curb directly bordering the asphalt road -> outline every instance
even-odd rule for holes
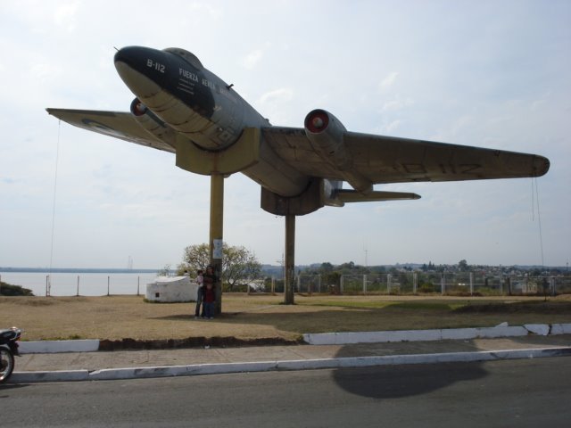
[[[55,372],[14,372],[10,383],[45,383],[69,381],[107,381],[157,377],[194,376],[204,374],[258,373],[268,371],[299,371],[368,366],[434,364],[493,361],[504,359],[552,358],[571,356],[571,347],[525,350],[486,350],[439,354],[392,355],[381,357],[321,358],[289,361],[197,364],[191,366],[157,366],[109,368],[88,372],[70,370]]]

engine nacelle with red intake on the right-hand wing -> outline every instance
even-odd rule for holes
[[[343,135],[347,131],[339,119],[325,110],[310,111],[304,121],[305,135],[319,156],[335,169],[352,168],[351,153],[345,148]]]

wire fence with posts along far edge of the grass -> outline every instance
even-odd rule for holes
[[[321,275],[295,277],[295,292],[329,294],[443,294],[459,296],[571,294],[571,276],[530,276],[495,272],[406,272],[343,275],[327,283]],[[145,294],[156,274],[5,274],[2,281],[21,284],[36,295]],[[284,292],[284,280],[266,277],[224,292]]]

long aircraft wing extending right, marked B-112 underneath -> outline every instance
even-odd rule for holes
[[[303,128],[271,127],[262,132],[295,169],[313,177],[343,180],[343,171],[319,156]],[[535,154],[393,136],[345,132],[343,144],[351,153],[352,171],[372,184],[540,177],[550,168],[549,160]]]

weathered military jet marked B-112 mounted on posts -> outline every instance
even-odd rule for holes
[[[128,46],[114,61],[136,96],[130,111],[47,111],[79,128],[173,152],[177,166],[194,173],[252,178],[261,185],[261,208],[286,218],[286,285],[293,277],[294,216],[326,205],[420,197],[373,185],[540,177],[550,166],[535,154],[351,132],[325,110],[310,111],[303,128],[274,126],[180,48]],[[220,199],[219,193],[211,194]],[[214,240],[221,240],[221,226],[218,235]]]

